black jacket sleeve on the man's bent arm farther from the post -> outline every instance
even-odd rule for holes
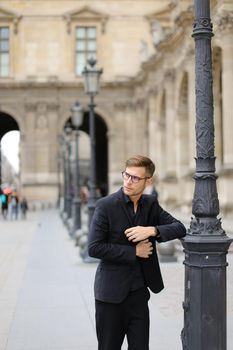
[[[91,257],[117,263],[133,263],[135,246],[109,241],[109,220],[102,201],[97,202],[88,237],[88,253]]]

